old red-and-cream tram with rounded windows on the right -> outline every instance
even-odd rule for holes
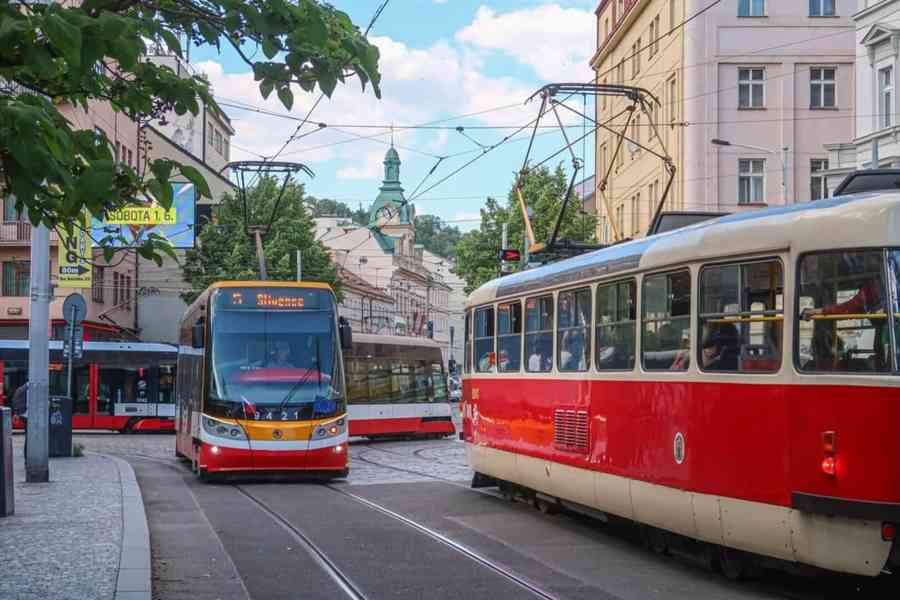
[[[486,283],[473,485],[763,557],[900,570],[900,194],[737,213]]]

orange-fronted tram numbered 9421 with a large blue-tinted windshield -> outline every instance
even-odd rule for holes
[[[346,476],[342,349],[323,283],[226,281],[180,327],[176,454],[201,479],[230,472]]]

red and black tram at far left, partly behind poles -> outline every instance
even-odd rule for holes
[[[50,394],[66,393],[63,343],[50,340]],[[174,431],[178,349],[147,342],[86,341],[73,362],[72,426],[122,433]],[[0,404],[28,380],[28,341],[0,340]],[[13,426],[22,423],[13,417]]]

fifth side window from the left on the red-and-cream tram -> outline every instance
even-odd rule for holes
[[[597,288],[597,369],[634,368],[636,292],[634,280]]]

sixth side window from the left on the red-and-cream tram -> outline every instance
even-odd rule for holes
[[[647,370],[686,371],[691,346],[691,274],[644,277],[641,361]]]

